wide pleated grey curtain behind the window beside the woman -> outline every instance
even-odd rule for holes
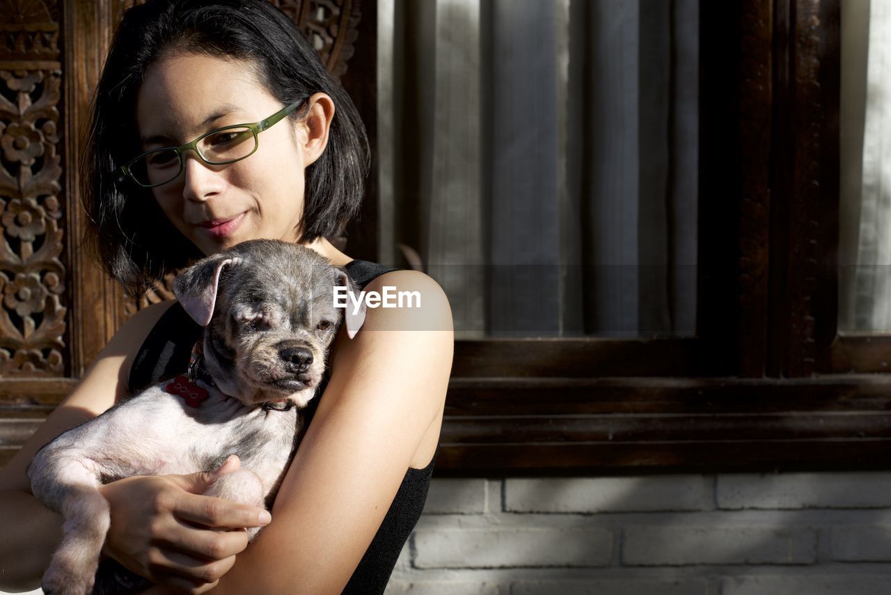
[[[699,0],[379,0],[380,260],[456,335],[695,332]]]

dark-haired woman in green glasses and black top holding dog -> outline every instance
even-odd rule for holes
[[[208,133],[245,123],[262,124],[254,151],[215,161],[217,136]],[[421,293],[421,308],[369,309],[352,340],[339,331],[330,380],[257,541],[248,546],[243,527],[265,525],[261,509],[200,496],[234,460],[102,486],[111,511],[103,553],[158,583],[151,592],[382,591],[426,496],[453,334],[432,279],[383,272],[325,239],[356,213],[367,168],[349,98],[265,0],[151,0],[127,11],[112,41],[88,149],[90,236],[103,266],[133,292],[264,237],[307,245],[364,277],[366,291]],[[177,327],[171,311],[163,302],[128,320],[4,468],[0,588],[36,587],[61,535],[61,517],[29,492],[29,460],[125,398],[135,378],[184,365],[151,351],[160,342],[179,352],[190,340],[194,329]]]

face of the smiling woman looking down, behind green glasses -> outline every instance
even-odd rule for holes
[[[148,151],[184,145],[214,128],[265,120],[282,107],[247,62],[174,54],[146,72],[136,122]],[[257,152],[241,161],[208,165],[187,151],[179,177],[151,191],[173,225],[205,254],[255,238],[296,242],[304,169],[317,156],[305,150],[306,136],[305,127],[285,118],[260,133]]]

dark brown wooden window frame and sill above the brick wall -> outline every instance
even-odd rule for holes
[[[701,3],[696,337],[457,341],[437,475],[887,467],[891,337],[838,332],[839,17]]]

